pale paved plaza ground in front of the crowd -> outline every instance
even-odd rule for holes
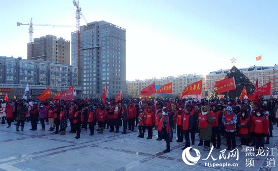
[[[104,134],[95,131],[94,136],[89,136],[89,131],[86,131],[81,132],[80,139],[75,139],[72,133],[60,135],[49,132],[49,125],[44,132],[39,131],[40,124],[37,131],[30,131],[30,122],[25,124],[24,131],[16,132],[15,125],[6,127],[7,124],[0,125],[0,170],[278,170],[276,126],[270,144],[265,145],[265,148],[274,147],[273,156],[250,157],[239,152],[239,159],[236,160],[235,157],[227,159],[228,152],[225,152],[226,159],[219,159],[220,151],[226,149],[225,139],[222,139],[221,149],[214,148],[211,153],[216,160],[213,161],[212,157],[203,160],[209,151],[197,146],[197,138],[193,147],[200,151],[201,158],[195,165],[183,162],[181,147],[184,142],[176,142],[176,134],[170,143],[171,152],[163,153],[166,142],[156,141],[156,130],[150,140],[146,139],[147,133],[145,138],[137,138],[137,127],[127,134],[111,133],[106,129]],[[241,150],[241,147],[238,148]],[[194,156],[194,150],[191,154]],[[248,158],[254,158],[254,166],[246,166]],[[271,164],[275,166],[269,166],[269,158],[273,158]],[[209,167],[205,162],[238,163],[238,166]]]

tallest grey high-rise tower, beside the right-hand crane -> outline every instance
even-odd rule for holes
[[[78,66],[77,34],[73,32],[72,65]],[[80,26],[79,84],[82,98],[100,98],[105,84],[108,96],[126,91],[125,29],[100,21]]]

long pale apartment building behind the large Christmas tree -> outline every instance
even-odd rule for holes
[[[251,82],[256,83],[258,79],[258,85],[259,87],[262,86],[262,84],[265,84],[269,81],[271,81],[271,92],[274,94],[277,94],[278,91],[278,65],[274,66],[250,66],[247,68],[239,68],[239,70],[247,76]],[[214,89],[215,81],[219,81],[223,79],[223,77],[226,75],[226,73],[229,71],[229,69],[220,69],[217,71],[212,71],[207,77],[206,85],[208,93]],[[262,82],[263,81],[263,82]]]

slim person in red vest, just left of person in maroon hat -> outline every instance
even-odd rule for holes
[[[183,120],[183,111],[184,106],[179,106],[178,111],[176,112],[176,142],[183,142],[183,130],[182,130],[182,120]]]

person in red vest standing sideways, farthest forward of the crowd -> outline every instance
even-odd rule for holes
[[[163,111],[162,118],[159,121],[157,130],[160,131],[161,138],[165,139],[166,141],[166,149],[163,150],[163,152],[166,153],[166,152],[170,152],[170,139],[169,139],[170,126],[169,126],[168,108],[166,107],[162,111]]]

